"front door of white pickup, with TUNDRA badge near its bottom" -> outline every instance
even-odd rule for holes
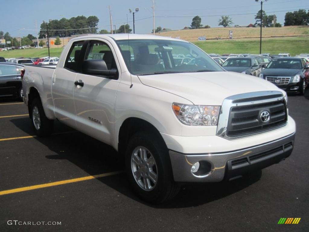
[[[103,59],[108,70],[117,69],[121,74],[115,51],[108,41],[89,41],[85,54],[84,60]],[[76,76],[76,81],[83,83],[83,86],[74,87],[78,130],[107,144],[111,144],[114,136],[114,108],[120,78],[110,79],[83,72]]]

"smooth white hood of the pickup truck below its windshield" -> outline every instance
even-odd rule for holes
[[[222,105],[226,97],[240,93],[284,92],[269,81],[235,72],[170,73],[138,77],[142,84],[176,94],[195,105]]]

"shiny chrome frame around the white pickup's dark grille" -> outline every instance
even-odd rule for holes
[[[265,130],[261,130],[261,131],[255,131],[255,132],[245,134],[245,135],[235,135],[235,136],[228,135],[231,108],[239,107],[239,106],[255,107],[254,105],[257,105],[257,104],[264,104],[264,103],[271,104],[272,102],[275,102],[275,103],[284,102],[285,114],[286,114],[286,121],[284,124],[271,127],[271,128],[266,128]],[[287,108],[286,108],[286,102],[285,102],[282,92],[280,91],[260,91],[260,92],[249,92],[249,93],[237,94],[237,95],[227,97],[223,100],[222,107],[219,113],[218,127],[217,127],[216,134],[228,140],[239,139],[243,137],[265,133],[266,131],[272,131],[274,129],[285,126],[286,122],[287,122]]]

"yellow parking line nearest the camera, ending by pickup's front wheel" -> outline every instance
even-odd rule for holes
[[[51,183],[46,183],[46,184],[38,184],[38,185],[32,185],[32,186],[28,186],[28,187],[4,190],[4,191],[0,191],[0,195],[6,195],[6,194],[11,194],[11,193],[16,193],[16,192],[34,190],[34,189],[38,189],[38,188],[46,188],[46,187],[68,184],[68,183],[74,183],[74,182],[79,182],[79,181],[84,181],[84,180],[97,179],[97,178],[101,178],[101,177],[120,174],[120,173],[123,173],[123,172],[124,171],[108,172],[108,173],[103,173],[103,174],[98,174],[98,175],[93,175],[93,176],[85,176],[85,177],[74,178],[74,179],[69,179],[69,180],[61,180],[61,181],[56,181],[56,182],[51,182]]]

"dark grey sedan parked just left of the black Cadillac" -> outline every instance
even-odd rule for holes
[[[222,67],[226,71],[253,76],[259,76],[262,71],[262,65],[254,57],[230,57],[222,64]]]

